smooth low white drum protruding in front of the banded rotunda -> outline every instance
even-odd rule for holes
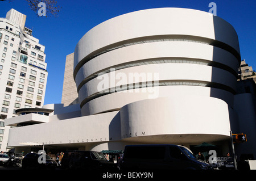
[[[122,107],[121,135],[124,141],[152,143],[196,144],[199,137],[225,140],[230,134],[228,112],[228,105],[216,98],[174,96],[141,100]]]

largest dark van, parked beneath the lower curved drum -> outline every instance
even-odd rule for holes
[[[211,170],[207,162],[180,145],[127,145],[121,169]]]

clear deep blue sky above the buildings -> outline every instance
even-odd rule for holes
[[[209,11],[217,5],[217,16],[232,24],[238,33],[241,58],[256,69],[255,0],[58,0],[62,7],[57,18],[38,17],[24,0],[0,2],[0,17],[11,8],[27,15],[26,26],[46,46],[48,81],[44,104],[61,103],[65,58],[75,50],[81,37],[97,24],[115,16],[158,7],[183,7]]]

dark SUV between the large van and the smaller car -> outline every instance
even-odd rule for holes
[[[114,170],[117,165],[97,151],[66,151],[61,159],[62,169]]]

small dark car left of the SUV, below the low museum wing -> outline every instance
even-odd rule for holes
[[[27,167],[36,169],[55,169],[56,166],[57,162],[47,154],[28,153],[22,159],[23,169],[26,169]]]

